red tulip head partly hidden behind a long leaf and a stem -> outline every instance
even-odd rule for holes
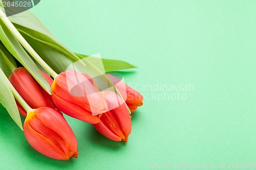
[[[45,72],[41,71],[41,73],[51,85],[53,82],[51,77],[45,74]],[[51,95],[37,83],[26,68],[16,68],[10,75],[9,81],[32,109],[39,107],[55,108]],[[24,108],[17,101],[16,104],[19,113],[26,117],[27,112]]]

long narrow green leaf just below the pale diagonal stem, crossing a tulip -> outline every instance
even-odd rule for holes
[[[36,79],[36,81],[48,92],[51,93],[51,87],[47,80],[42,76],[40,70],[20,45],[18,40],[13,34],[6,28],[2,20],[0,20],[0,39],[7,48],[7,50],[30,72],[30,74]]]

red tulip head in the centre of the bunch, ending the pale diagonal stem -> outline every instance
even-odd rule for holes
[[[52,100],[59,111],[91,124],[99,123],[101,113],[108,108],[94,80],[73,70],[54,79]]]

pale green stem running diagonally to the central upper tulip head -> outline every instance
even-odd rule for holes
[[[27,52],[47,71],[49,74],[55,78],[58,74],[35,52],[31,45],[26,41],[26,39],[18,32],[18,30],[13,26],[12,22],[8,19],[4,11],[0,10],[0,16],[2,21],[5,23],[6,27],[11,31],[11,33],[17,38],[20,44],[27,50]]]

